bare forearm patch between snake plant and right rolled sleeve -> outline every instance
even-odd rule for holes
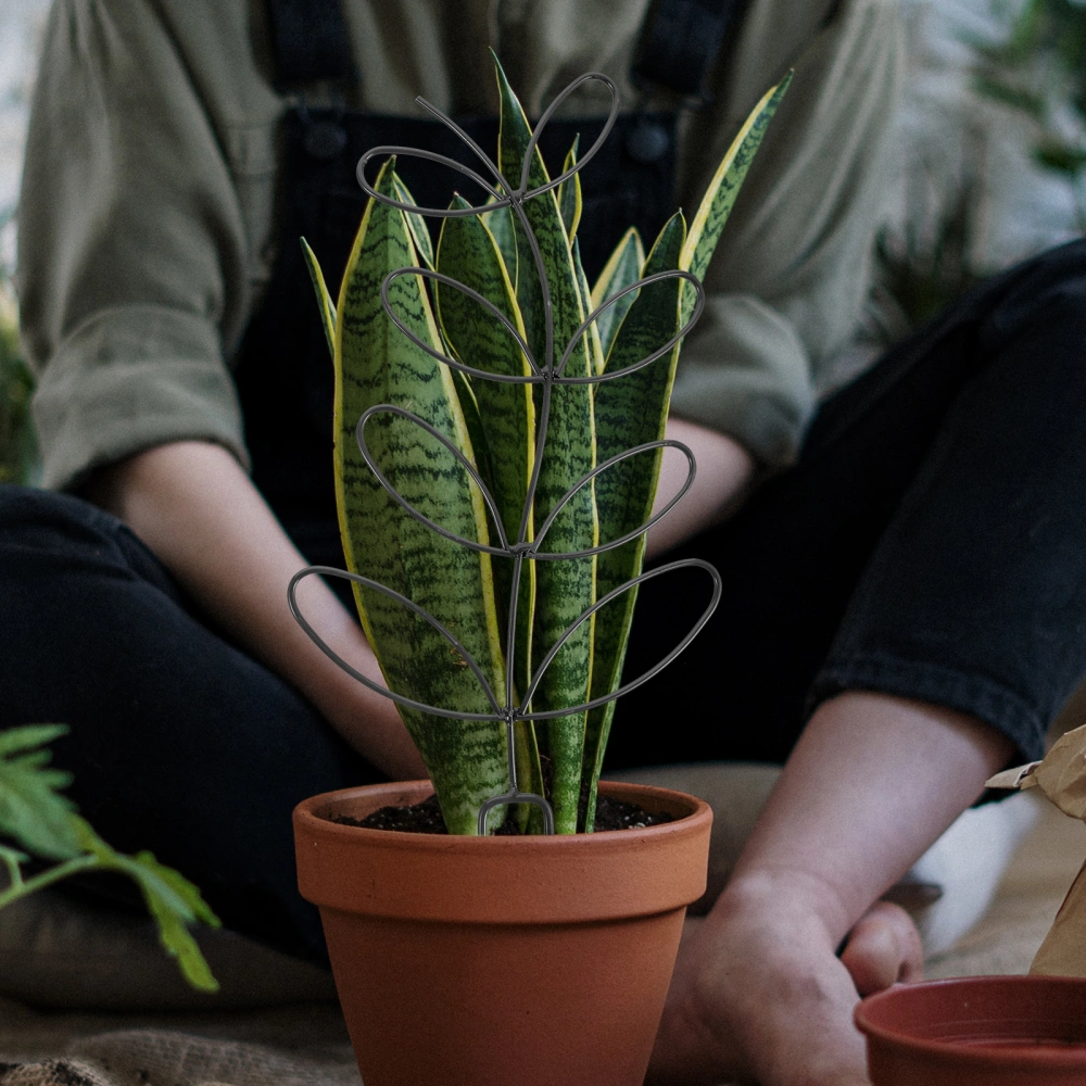
[[[691,450],[697,470],[683,500],[649,531],[649,558],[723,520],[738,503],[754,475],[750,454],[727,434],[672,417],[668,419],[667,437],[681,441]],[[679,493],[689,470],[690,463],[681,452],[664,451],[654,515]]]

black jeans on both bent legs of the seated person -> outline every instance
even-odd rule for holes
[[[608,766],[782,760],[846,689],[973,714],[1036,756],[1086,671],[1086,242],[895,349],[825,404],[794,468],[681,553],[717,565],[721,606],[619,703]],[[70,724],[55,761],[106,839],[178,867],[236,930],[319,957],[290,811],[372,767],[83,502],[0,488],[0,727]],[[643,588],[628,678],[704,598],[704,574]]]

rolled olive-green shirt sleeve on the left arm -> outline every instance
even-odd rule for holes
[[[155,8],[60,0],[47,27],[18,268],[50,488],[186,438],[245,462],[225,363],[248,307],[243,216],[199,73]]]

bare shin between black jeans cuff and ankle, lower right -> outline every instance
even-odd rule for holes
[[[839,943],[1012,755],[995,729],[939,706],[864,692],[824,703],[793,750],[721,909],[791,898]]]

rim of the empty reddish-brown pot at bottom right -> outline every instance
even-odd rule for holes
[[[906,1048],[910,1052],[924,1056],[938,1057],[955,1063],[969,1064],[971,1066],[990,1066],[993,1070],[1013,1069],[1033,1070],[1037,1066],[1038,1056],[1044,1051],[1044,1062],[1047,1066],[1064,1068],[1066,1070],[1081,1070],[1086,1066],[1086,1052],[1083,1048],[1074,1050],[1061,1050],[1056,1047],[1038,1049],[1037,1055],[1015,1053],[1009,1055],[1006,1049],[985,1048],[983,1045],[962,1045],[954,1040],[933,1040],[930,1037],[917,1037],[900,1028],[894,1028],[883,1024],[875,1024],[869,1020],[869,1012],[872,1007],[884,1002],[891,1002],[898,997],[899,993],[906,990],[910,993],[922,993],[934,988],[990,988],[990,987],[1055,987],[1055,988],[1079,988],[1086,989],[1086,980],[1076,976],[1039,976],[1039,975],[992,975],[992,976],[950,976],[937,981],[921,981],[915,984],[895,984],[891,988],[879,992],[873,996],[864,998],[856,1008],[853,1020],[856,1027],[869,1038],[881,1040],[885,1044]]]

